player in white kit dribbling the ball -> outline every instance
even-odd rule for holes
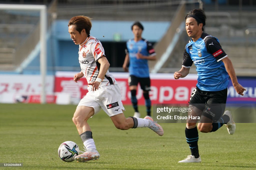
[[[88,93],[79,102],[72,118],[86,149],[86,152],[75,157],[78,162],[98,160],[100,157],[87,120],[101,109],[110,116],[118,129],[148,127],[159,136],[164,134],[163,128],[149,116],[144,119],[125,118],[120,88],[108,71],[110,64],[101,42],[90,36],[91,26],[91,18],[86,16],[75,16],[68,23],[70,37],[76,45],[79,45],[81,72],[74,75],[74,81],[77,82],[85,76],[88,82]]]

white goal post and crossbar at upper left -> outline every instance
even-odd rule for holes
[[[41,74],[41,103],[46,103],[45,80],[47,71],[46,60],[46,31],[47,7],[46,5],[0,4],[2,10],[40,11],[40,74]]]

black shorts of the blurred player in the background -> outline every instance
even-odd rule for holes
[[[134,75],[130,75],[128,78],[128,85],[129,86],[137,86],[140,83],[141,89],[143,91],[150,91],[150,78],[140,78]]]

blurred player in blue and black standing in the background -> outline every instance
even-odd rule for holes
[[[132,25],[134,39],[126,43],[126,56],[123,64],[124,71],[130,72],[128,84],[131,90],[132,105],[135,110],[134,117],[140,117],[136,98],[138,83],[140,83],[143,90],[147,115],[151,116],[151,100],[148,93],[150,91],[150,77],[147,60],[156,60],[156,53],[152,44],[141,37],[143,29],[142,24],[138,21]],[[130,64],[129,69],[127,68],[128,64]]]

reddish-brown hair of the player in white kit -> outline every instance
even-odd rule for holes
[[[70,25],[76,25],[76,30],[81,33],[83,29],[85,29],[86,34],[90,35],[90,30],[92,28],[92,22],[90,17],[86,16],[75,16],[72,17],[69,22],[68,26]]]

